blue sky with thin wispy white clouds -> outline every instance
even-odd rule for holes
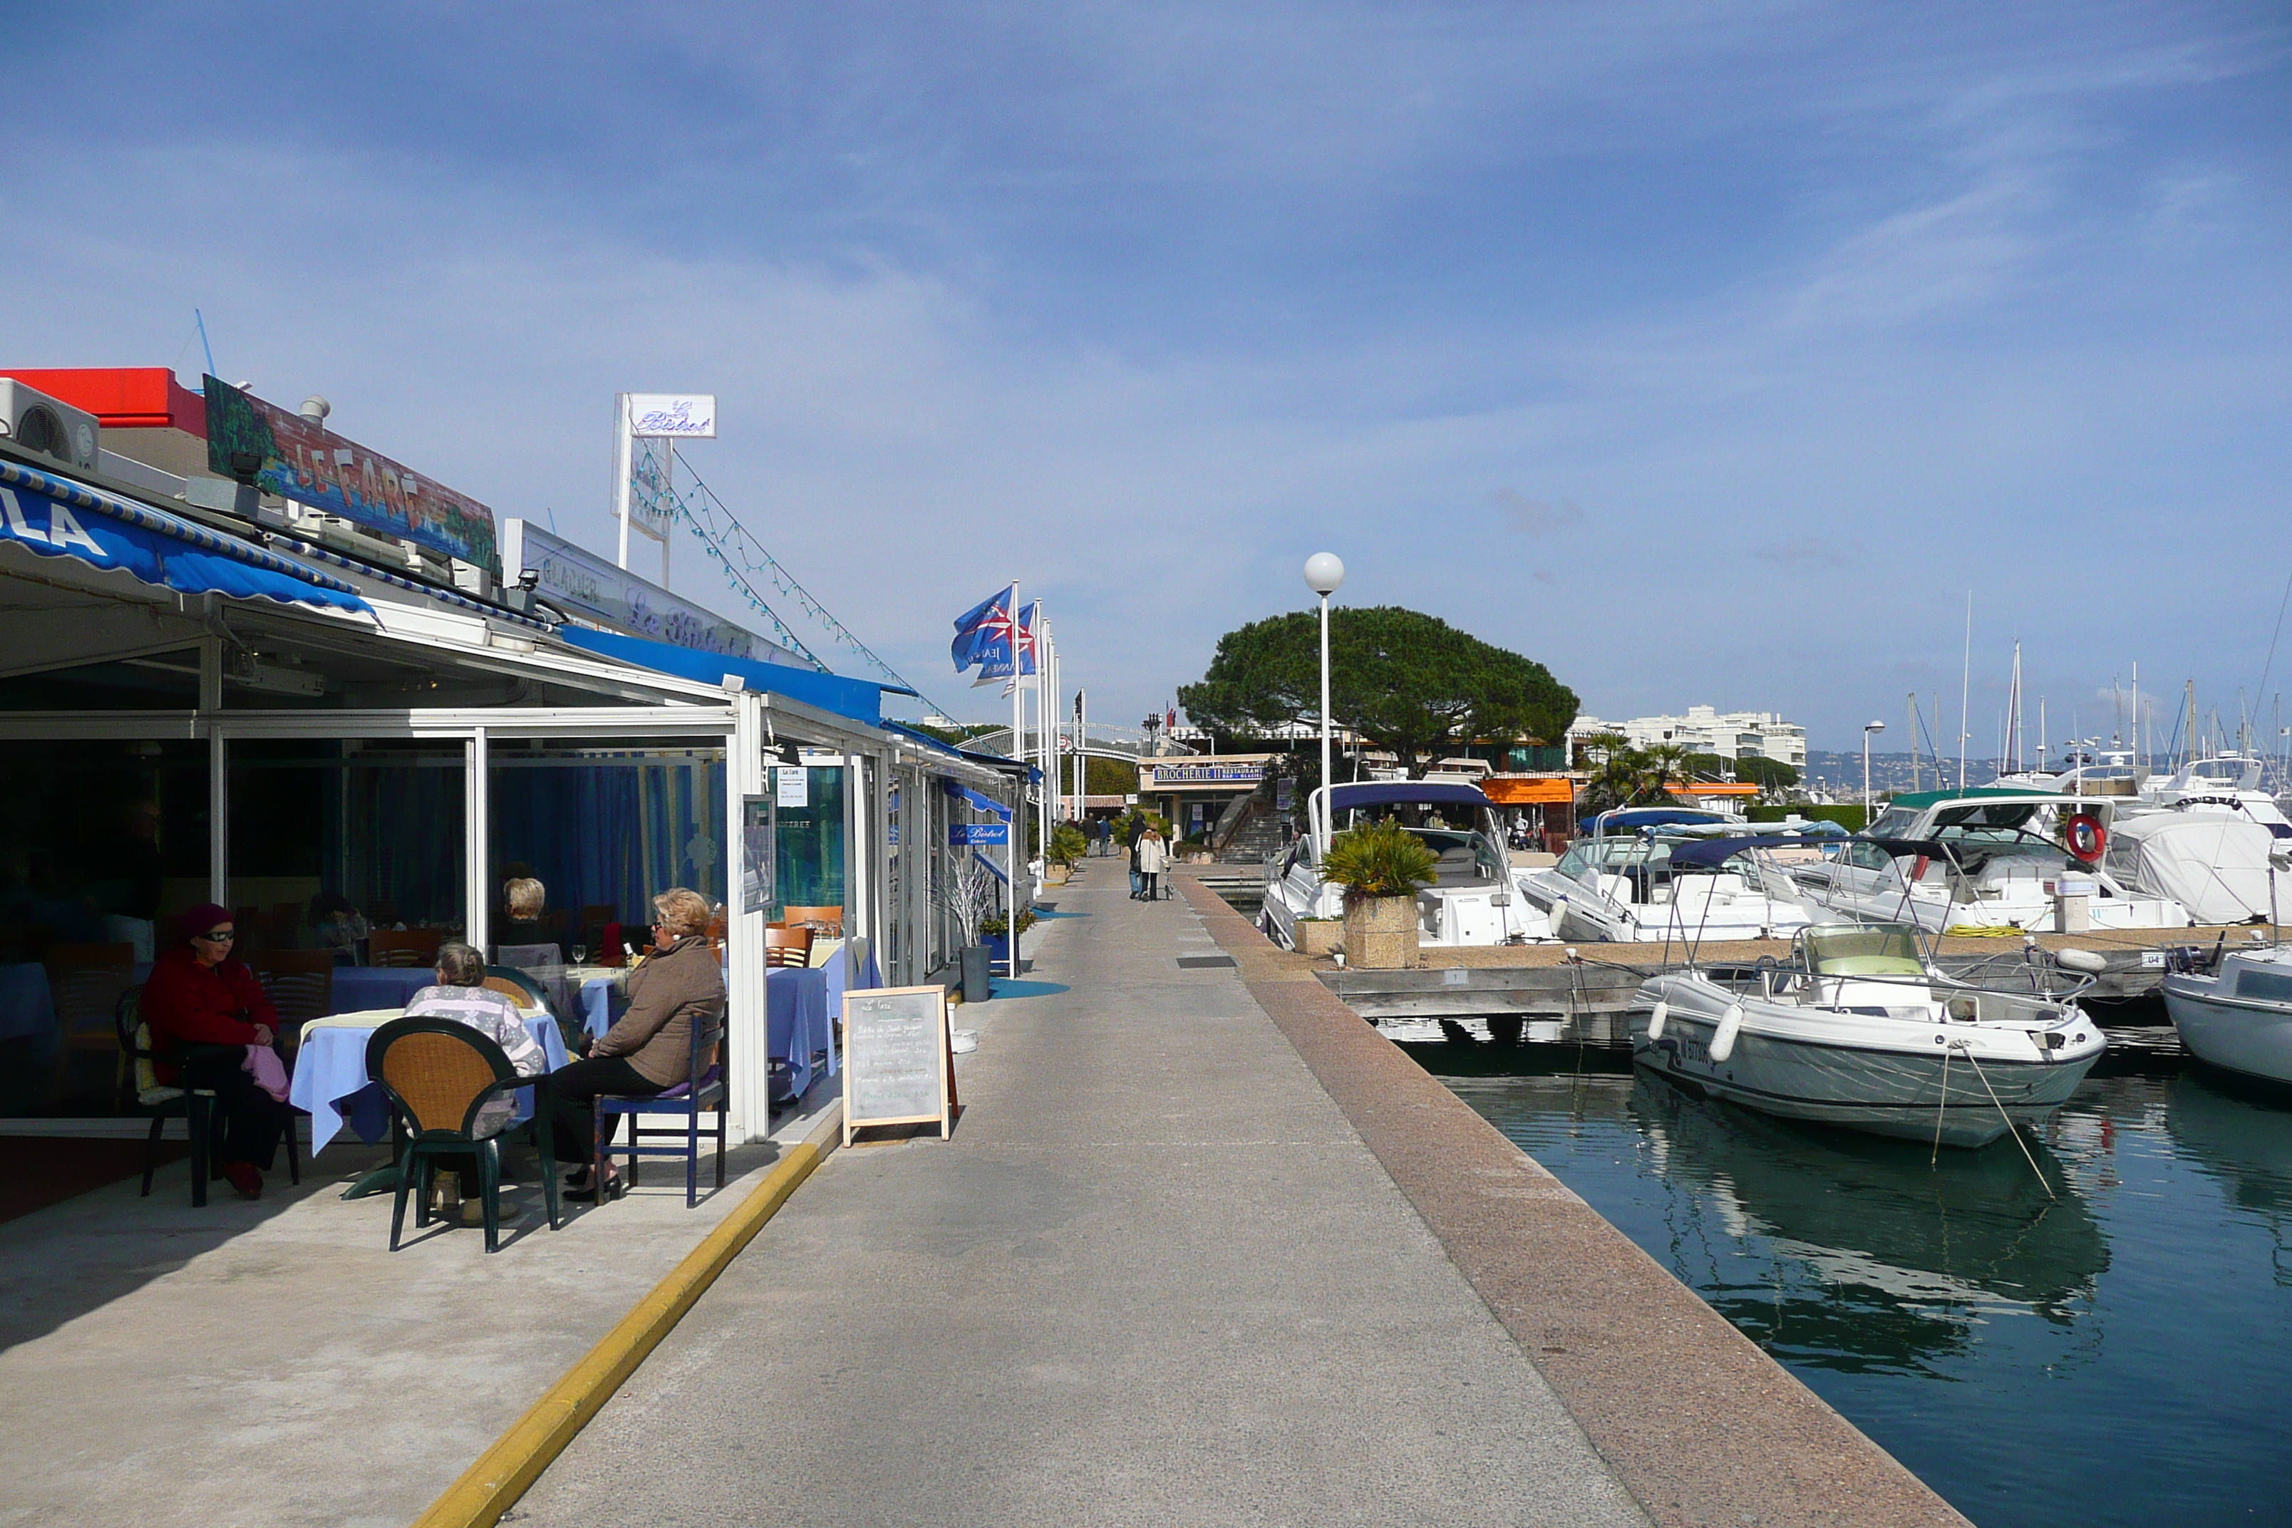
[[[972,719],[1008,580],[1135,722],[1332,550],[1609,719],[1955,751],[1971,596],[1976,754],[2015,639],[2056,742],[2132,664],[2274,731],[2283,5],[637,16],[0,0],[0,364],[195,387],[197,309],[596,548],[614,392],[715,392],[692,465]]]

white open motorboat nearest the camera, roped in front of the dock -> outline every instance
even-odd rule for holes
[[[1634,1065],[1790,1120],[1987,1145],[2067,1102],[2106,1040],[2077,1006],[2097,955],[2024,953],[1994,983],[1944,974],[1914,923],[1820,923],[1790,962],[1641,983]],[[2072,960],[2074,958],[2074,960]]]

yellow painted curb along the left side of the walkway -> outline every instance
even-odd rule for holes
[[[449,1484],[445,1496],[415,1519],[413,1528],[493,1528],[525,1496],[527,1487],[541,1480],[541,1471],[589,1425],[589,1418],[605,1407],[621,1381],[637,1372],[644,1356],[660,1345],[660,1338],[669,1336],[669,1329],[683,1320],[717,1274],[788,1203],[795,1187],[811,1177],[811,1168],[837,1148],[841,1134],[843,1104],[839,1100],[821,1116],[811,1134],[791,1145],[763,1175],[747,1200],[685,1253],[685,1260],[653,1285],[635,1310],[623,1315],[580,1363],[564,1372],[564,1379],[548,1388],[548,1395],[495,1439],[493,1448],[479,1455],[477,1464],[463,1471],[461,1480]]]

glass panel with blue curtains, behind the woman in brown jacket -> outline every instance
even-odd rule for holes
[[[722,747],[493,738],[488,763],[495,953],[557,946],[596,958],[607,923],[642,951],[660,891],[690,887],[724,903]],[[539,905],[509,907],[513,880],[541,882]]]

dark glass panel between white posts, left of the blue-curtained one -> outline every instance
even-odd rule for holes
[[[241,953],[376,958],[376,930],[468,928],[461,742],[229,745],[229,905]]]

